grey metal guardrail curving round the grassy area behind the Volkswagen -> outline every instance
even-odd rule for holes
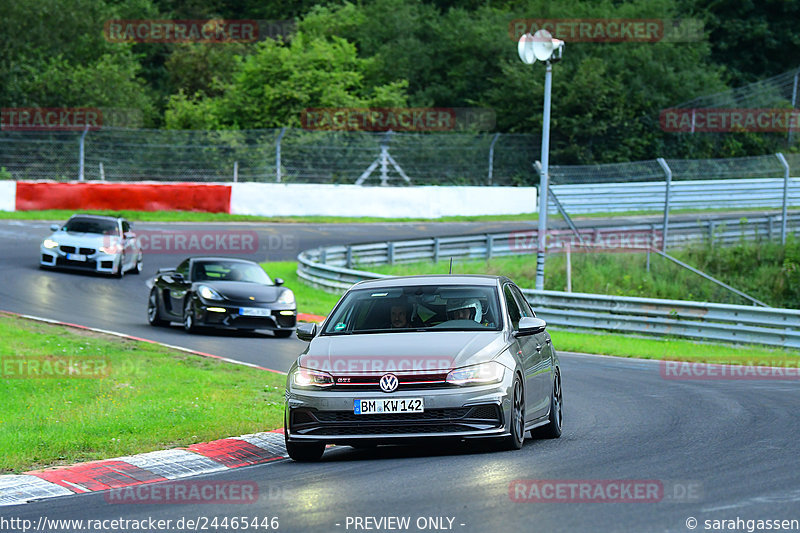
[[[688,236],[697,239],[711,235],[715,243],[741,238],[778,238],[780,225],[775,218],[780,217],[760,217],[742,224],[737,219],[673,223],[669,239],[685,244]],[[796,230],[800,226],[800,215],[789,217],[787,222]],[[735,229],[726,229],[729,225]],[[651,227],[649,224],[609,226],[597,228],[597,231]],[[526,235],[530,233],[525,232]],[[311,285],[343,292],[361,280],[389,277],[353,269],[354,265],[519,254],[519,246],[514,244],[517,236],[500,233],[317,248],[298,256],[297,274]],[[523,293],[537,314],[556,327],[800,348],[800,310],[795,309],[532,289],[523,289]]]

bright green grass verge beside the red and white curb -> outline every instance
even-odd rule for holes
[[[155,344],[0,315],[0,364],[0,473],[187,446],[283,420],[283,376]]]

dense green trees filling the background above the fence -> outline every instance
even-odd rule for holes
[[[699,19],[678,43],[567,43],[555,66],[552,162],[760,155],[786,134],[675,134],[661,109],[800,67],[800,0],[31,0],[0,3],[2,107],[136,110],[143,127],[299,126],[335,106],[487,107],[496,131],[538,133],[544,69],[518,18]],[[293,20],[257,43],[109,42],[110,19]],[[765,106],[767,107],[767,106]],[[800,136],[796,136],[800,137]]]

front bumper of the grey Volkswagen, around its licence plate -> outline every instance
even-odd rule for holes
[[[500,437],[510,434],[511,372],[492,385],[375,391],[292,389],[287,385],[286,435],[290,441],[391,444],[429,438]],[[355,399],[422,398],[422,413],[356,415]]]

